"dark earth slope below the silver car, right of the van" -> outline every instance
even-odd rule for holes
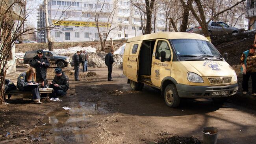
[[[245,31],[239,32],[238,34],[212,36],[211,40],[213,45],[219,50],[222,55],[224,52],[228,53],[228,64],[239,65],[241,55],[245,50],[249,49],[250,45],[253,44],[254,36],[255,31]]]

